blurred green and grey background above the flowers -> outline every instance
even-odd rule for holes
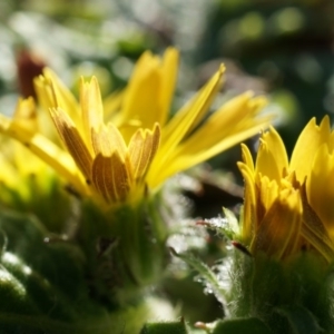
[[[177,107],[227,65],[227,96],[269,96],[291,151],[313,116],[334,111],[331,0],[0,0],[0,101],[17,98],[17,62],[33,52],[76,89],[97,75],[104,95],[122,87],[139,55],[181,51]]]

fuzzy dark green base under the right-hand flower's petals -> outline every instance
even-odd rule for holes
[[[230,282],[227,302],[232,317],[258,317],[279,334],[334,330],[333,274],[312,252],[282,262],[235,249]]]

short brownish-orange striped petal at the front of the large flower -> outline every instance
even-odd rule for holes
[[[106,202],[126,199],[130,181],[125,163],[115,151],[111,157],[98,154],[92,163],[92,184]]]

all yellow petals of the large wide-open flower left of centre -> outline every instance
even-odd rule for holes
[[[29,146],[75,189],[107,204],[137,200],[148,187],[186,170],[266,127],[265,99],[243,94],[207,117],[224,67],[169,119],[178,52],[163,59],[145,52],[127,88],[102,102],[98,81],[81,79],[80,100],[50,71],[36,80],[40,104],[50,110],[53,135],[0,118],[6,132]],[[206,119],[207,118],[207,119]]]

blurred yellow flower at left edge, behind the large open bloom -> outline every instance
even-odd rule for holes
[[[36,106],[31,98],[19,100],[13,115],[13,128],[19,125],[22,138],[39,128]],[[11,131],[13,130],[11,128]],[[28,148],[7,136],[0,136],[0,205],[33,214],[51,232],[67,226],[71,197],[55,170]],[[50,212],[57,212],[57,216]]]

